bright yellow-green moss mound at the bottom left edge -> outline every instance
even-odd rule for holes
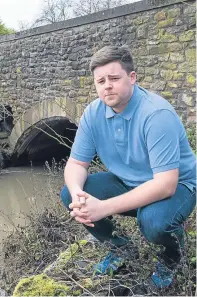
[[[68,286],[57,283],[42,273],[20,280],[13,296],[62,296],[62,293],[65,296],[68,292]]]

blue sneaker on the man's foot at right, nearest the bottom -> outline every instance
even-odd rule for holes
[[[173,282],[173,272],[164,264],[158,262],[151,279],[158,289],[168,288]]]

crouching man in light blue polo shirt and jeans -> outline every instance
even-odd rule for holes
[[[128,238],[112,235],[113,214],[137,217],[145,238],[163,245],[152,281],[173,281],[180,259],[183,222],[195,207],[195,155],[174,108],[136,84],[127,47],[108,46],[91,59],[99,98],[85,109],[65,167],[61,198],[70,214],[100,241],[123,248]],[[88,175],[98,154],[108,172]],[[108,273],[122,265],[113,249],[96,265]]]

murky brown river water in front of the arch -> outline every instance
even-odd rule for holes
[[[42,167],[18,167],[3,170],[0,174],[0,241],[13,229],[24,225],[25,216],[32,209],[48,205],[44,194],[49,190],[51,176]],[[59,185],[61,175],[55,176]],[[53,189],[54,190],[54,189]],[[58,187],[56,191],[58,190]]]

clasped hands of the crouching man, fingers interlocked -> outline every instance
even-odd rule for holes
[[[94,227],[93,222],[99,221],[106,216],[103,201],[85,191],[76,193],[69,208],[72,209],[70,212],[71,217],[89,227]]]

